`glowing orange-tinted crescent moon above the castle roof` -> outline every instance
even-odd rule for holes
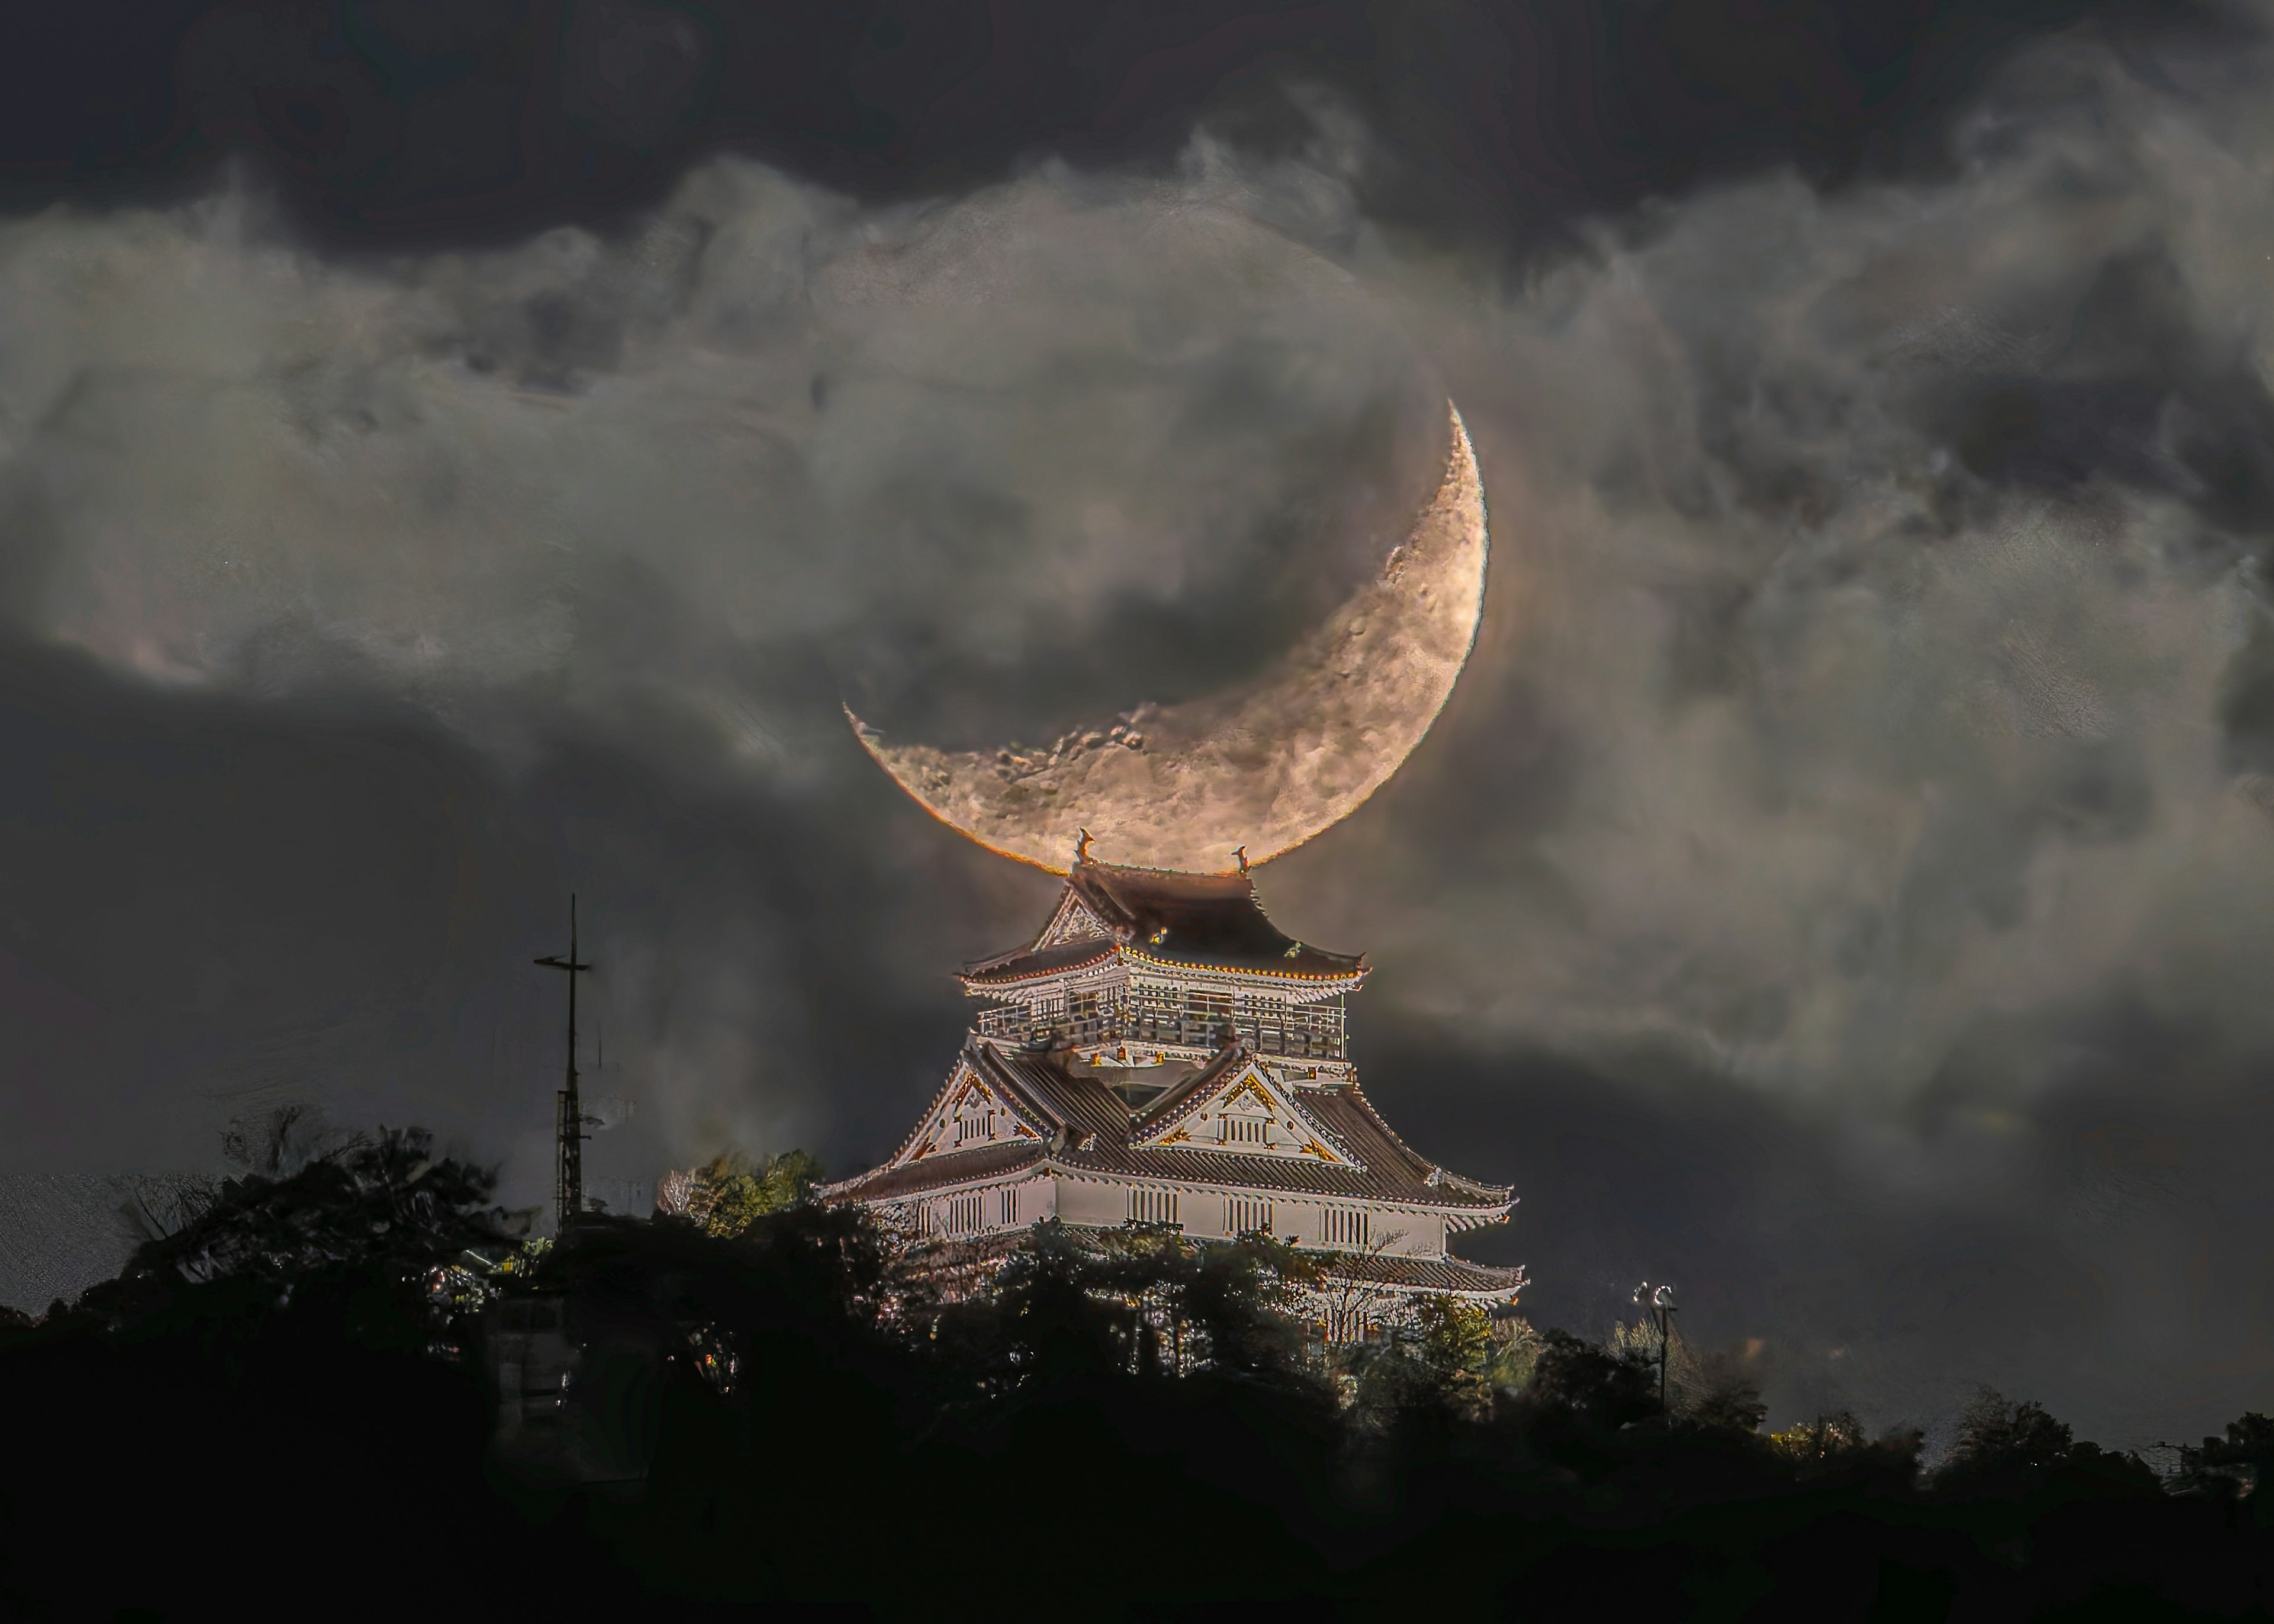
[[[1301,846],[1412,755],[1476,644],[1485,484],[1451,400],[1446,419],[1444,478],[1412,530],[1371,582],[1258,682],[1185,705],[1139,705],[1046,751],[889,744],[846,707],[853,732],[941,823],[1051,873],[1092,844],[1103,862],[1192,873]]]

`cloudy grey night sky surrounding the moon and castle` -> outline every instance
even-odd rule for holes
[[[1776,1424],[2267,1408],[2269,25],[14,7],[0,1180],[300,1103],[543,1201],[571,889],[600,1178],[866,1167],[1055,885],[839,701],[1258,676],[1451,393],[1476,655],[1258,880],[1467,1251]]]

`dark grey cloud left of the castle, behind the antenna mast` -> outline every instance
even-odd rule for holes
[[[305,1105],[432,1124],[541,1201],[559,987],[528,960],[571,887],[603,967],[587,1085],[637,1099],[603,1176],[857,1153],[955,1044],[939,967],[1019,896],[944,830],[896,851],[850,739],[825,787],[769,794],[673,771],[669,735],[628,755],[562,728],[500,776],[387,703],[184,698],[75,655],[18,651],[0,694],[7,1174],[218,1167],[232,1119]]]

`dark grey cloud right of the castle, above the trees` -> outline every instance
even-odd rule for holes
[[[1640,1278],[1676,1281],[1687,1335],[1746,1351],[1776,1415],[1935,1424],[1990,1383],[2144,1442],[2263,1390],[2251,1169],[2274,1101],[2138,1008],[2067,1012],[2060,1076],[2024,1110],[1981,1035],[1903,1128],[1667,1053],[1585,1067],[1446,1044],[1444,1024],[1360,1030],[1394,1119],[1462,1124],[1462,1155],[1526,1192],[1474,1251],[1553,1258],[1535,1317],[1601,1326]]]

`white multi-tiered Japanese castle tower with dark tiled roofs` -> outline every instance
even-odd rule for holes
[[[987,1008],[916,1130],[821,1194],[926,1240],[1010,1242],[1051,1217],[1269,1231],[1326,1253],[1371,1321],[1399,1299],[1512,1303],[1521,1269],[1446,1251],[1508,1219],[1508,1187],[1410,1149],[1360,1087],[1344,1001],[1364,980],[1364,958],[1280,933],[1244,869],[1085,857],[1032,942],[962,971]]]

